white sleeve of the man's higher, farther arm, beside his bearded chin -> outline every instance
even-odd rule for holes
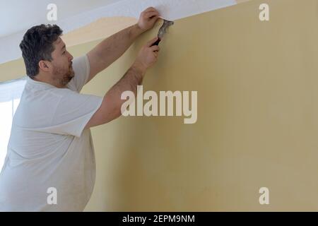
[[[83,86],[87,83],[90,74],[90,63],[87,55],[73,59],[73,71],[74,77],[67,84],[67,87],[80,93]]]

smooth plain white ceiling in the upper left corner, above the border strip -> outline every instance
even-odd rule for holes
[[[0,37],[12,35],[33,25],[49,23],[48,4],[57,5],[58,20],[120,0],[0,0]]]

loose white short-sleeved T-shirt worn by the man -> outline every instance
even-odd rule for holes
[[[88,203],[95,155],[84,127],[102,97],[79,93],[90,71],[86,55],[73,70],[68,88],[28,78],[0,174],[0,211],[82,211]]]

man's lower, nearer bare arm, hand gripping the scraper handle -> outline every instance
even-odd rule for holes
[[[154,38],[141,49],[131,68],[118,83],[105,94],[102,105],[100,105],[100,108],[93,114],[93,117],[90,118],[85,129],[105,124],[122,115],[122,104],[126,102],[126,100],[121,99],[122,93],[126,90],[130,90],[134,92],[136,96],[137,85],[141,85],[146,70],[155,64],[155,61],[158,59],[160,48],[157,45],[152,46],[157,40],[158,37]]]

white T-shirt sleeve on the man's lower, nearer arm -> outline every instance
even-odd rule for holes
[[[84,95],[64,89],[57,103],[52,121],[41,131],[80,137],[86,124],[100,108],[102,97]]]

